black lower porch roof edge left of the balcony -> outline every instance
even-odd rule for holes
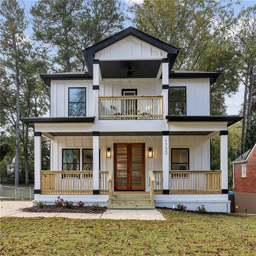
[[[94,123],[95,117],[25,117],[20,121],[34,127],[35,123]]]

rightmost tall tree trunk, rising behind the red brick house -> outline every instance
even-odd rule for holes
[[[246,129],[246,140],[245,150],[249,150],[251,146],[251,111],[252,111],[252,91],[254,82],[254,64],[251,67],[250,84],[249,84],[249,95],[248,95],[248,112],[247,112],[247,129]]]

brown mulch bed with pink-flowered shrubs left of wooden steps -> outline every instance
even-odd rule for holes
[[[70,208],[57,207],[55,205],[45,205],[43,208],[38,208],[36,206],[23,208],[23,212],[65,212],[65,213],[103,213],[107,210],[107,207],[97,207],[93,210],[91,206],[72,206]]]

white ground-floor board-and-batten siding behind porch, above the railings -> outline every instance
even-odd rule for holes
[[[146,188],[148,189],[148,172],[162,170],[162,136],[100,136],[100,166],[101,171],[114,168],[114,143],[145,143]],[[62,170],[62,149],[80,149],[80,170],[82,170],[82,149],[92,148],[92,136],[56,137],[51,141],[51,170]],[[106,149],[111,148],[111,158],[106,158]],[[153,158],[148,158],[148,148],[153,148]],[[189,148],[190,170],[210,169],[210,140],[200,136],[170,136],[169,138],[169,166],[171,169],[171,148]]]

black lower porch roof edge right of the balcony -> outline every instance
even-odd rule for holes
[[[227,122],[230,126],[243,119],[242,116],[166,116],[168,122]]]

